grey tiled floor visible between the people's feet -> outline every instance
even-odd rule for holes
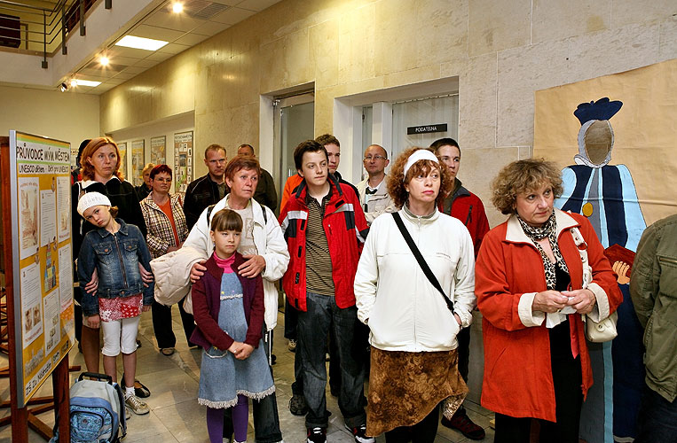
[[[132,416],[128,422],[127,437],[123,441],[131,442],[209,442],[207,426],[205,424],[205,408],[197,403],[198,382],[200,380],[201,350],[189,350],[183,330],[181,329],[178,309],[174,307],[174,331],[177,335],[177,353],[170,357],[160,354],[155,347],[153,323],[151,313],[145,313],[139,327],[139,339],[142,346],[138,349],[137,378],[152,392],[146,399],[151,408],[147,416]],[[282,434],[287,443],[301,443],[305,441],[305,428],[302,416],[292,416],[287,408],[291,397],[291,383],[294,381],[294,354],[287,350],[287,340],[282,337],[282,323],[284,315],[279,314],[279,323],[275,329],[273,353],[277,355],[277,363],[273,366],[279,421]],[[84,370],[83,355],[73,349],[70,354],[71,364],[81,364]],[[0,357],[0,367],[7,366],[6,356]],[[118,361],[119,373],[122,374],[122,361]],[[77,373],[71,374],[71,381]],[[9,381],[0,379],[0,395],[2,400],[9,400]],[[37,395],[49,395],[51,382],[48,380]],[[468,416],[484,427],[485,442],[493,441],[493,431],[489,427],[489,420],[493,414],[481,406],[466,401]],[[352,436],[343,427],[343,419],[339,412],[335,397],[329,394],[327,386],[327,408],[332,412],[329,417],[327,441],[330,443],[351,443]],[[1,409],[0,416],[6,416],[9,409]],[[52,426],[54,417],[52,412],[45,413],[40,418]],[[43,442],[35,432],[29,431],[29,443]],[[251,416],[249,417],[249,441],[254,441],[254,429]],[[385,443],[379,437],[377,443]],[[0,429],[0,443],[12,441],[12,431],[9,426]],[[465,439],[460,432],[452,431],[440,425],[437,431],[437,443],[460,443],[471,441]]]

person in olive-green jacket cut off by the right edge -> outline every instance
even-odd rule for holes
[[[677,442],[677,214],[642,234],[630,279],[647,369],[635,443]]]

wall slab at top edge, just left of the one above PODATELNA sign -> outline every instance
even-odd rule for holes
[[[418,61],[416,35],[420,29],[414,0],[376,4],[374,74],[413,69]]]

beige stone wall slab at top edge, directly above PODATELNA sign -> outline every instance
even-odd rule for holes
[[[418,0],[417,64],[468,57],[468,0]]]

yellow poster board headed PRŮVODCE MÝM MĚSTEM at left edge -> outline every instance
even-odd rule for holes
[[[70,144],[10,131],[19,407],[75,341]],[[20,351],[19,351],[20,350]]]

